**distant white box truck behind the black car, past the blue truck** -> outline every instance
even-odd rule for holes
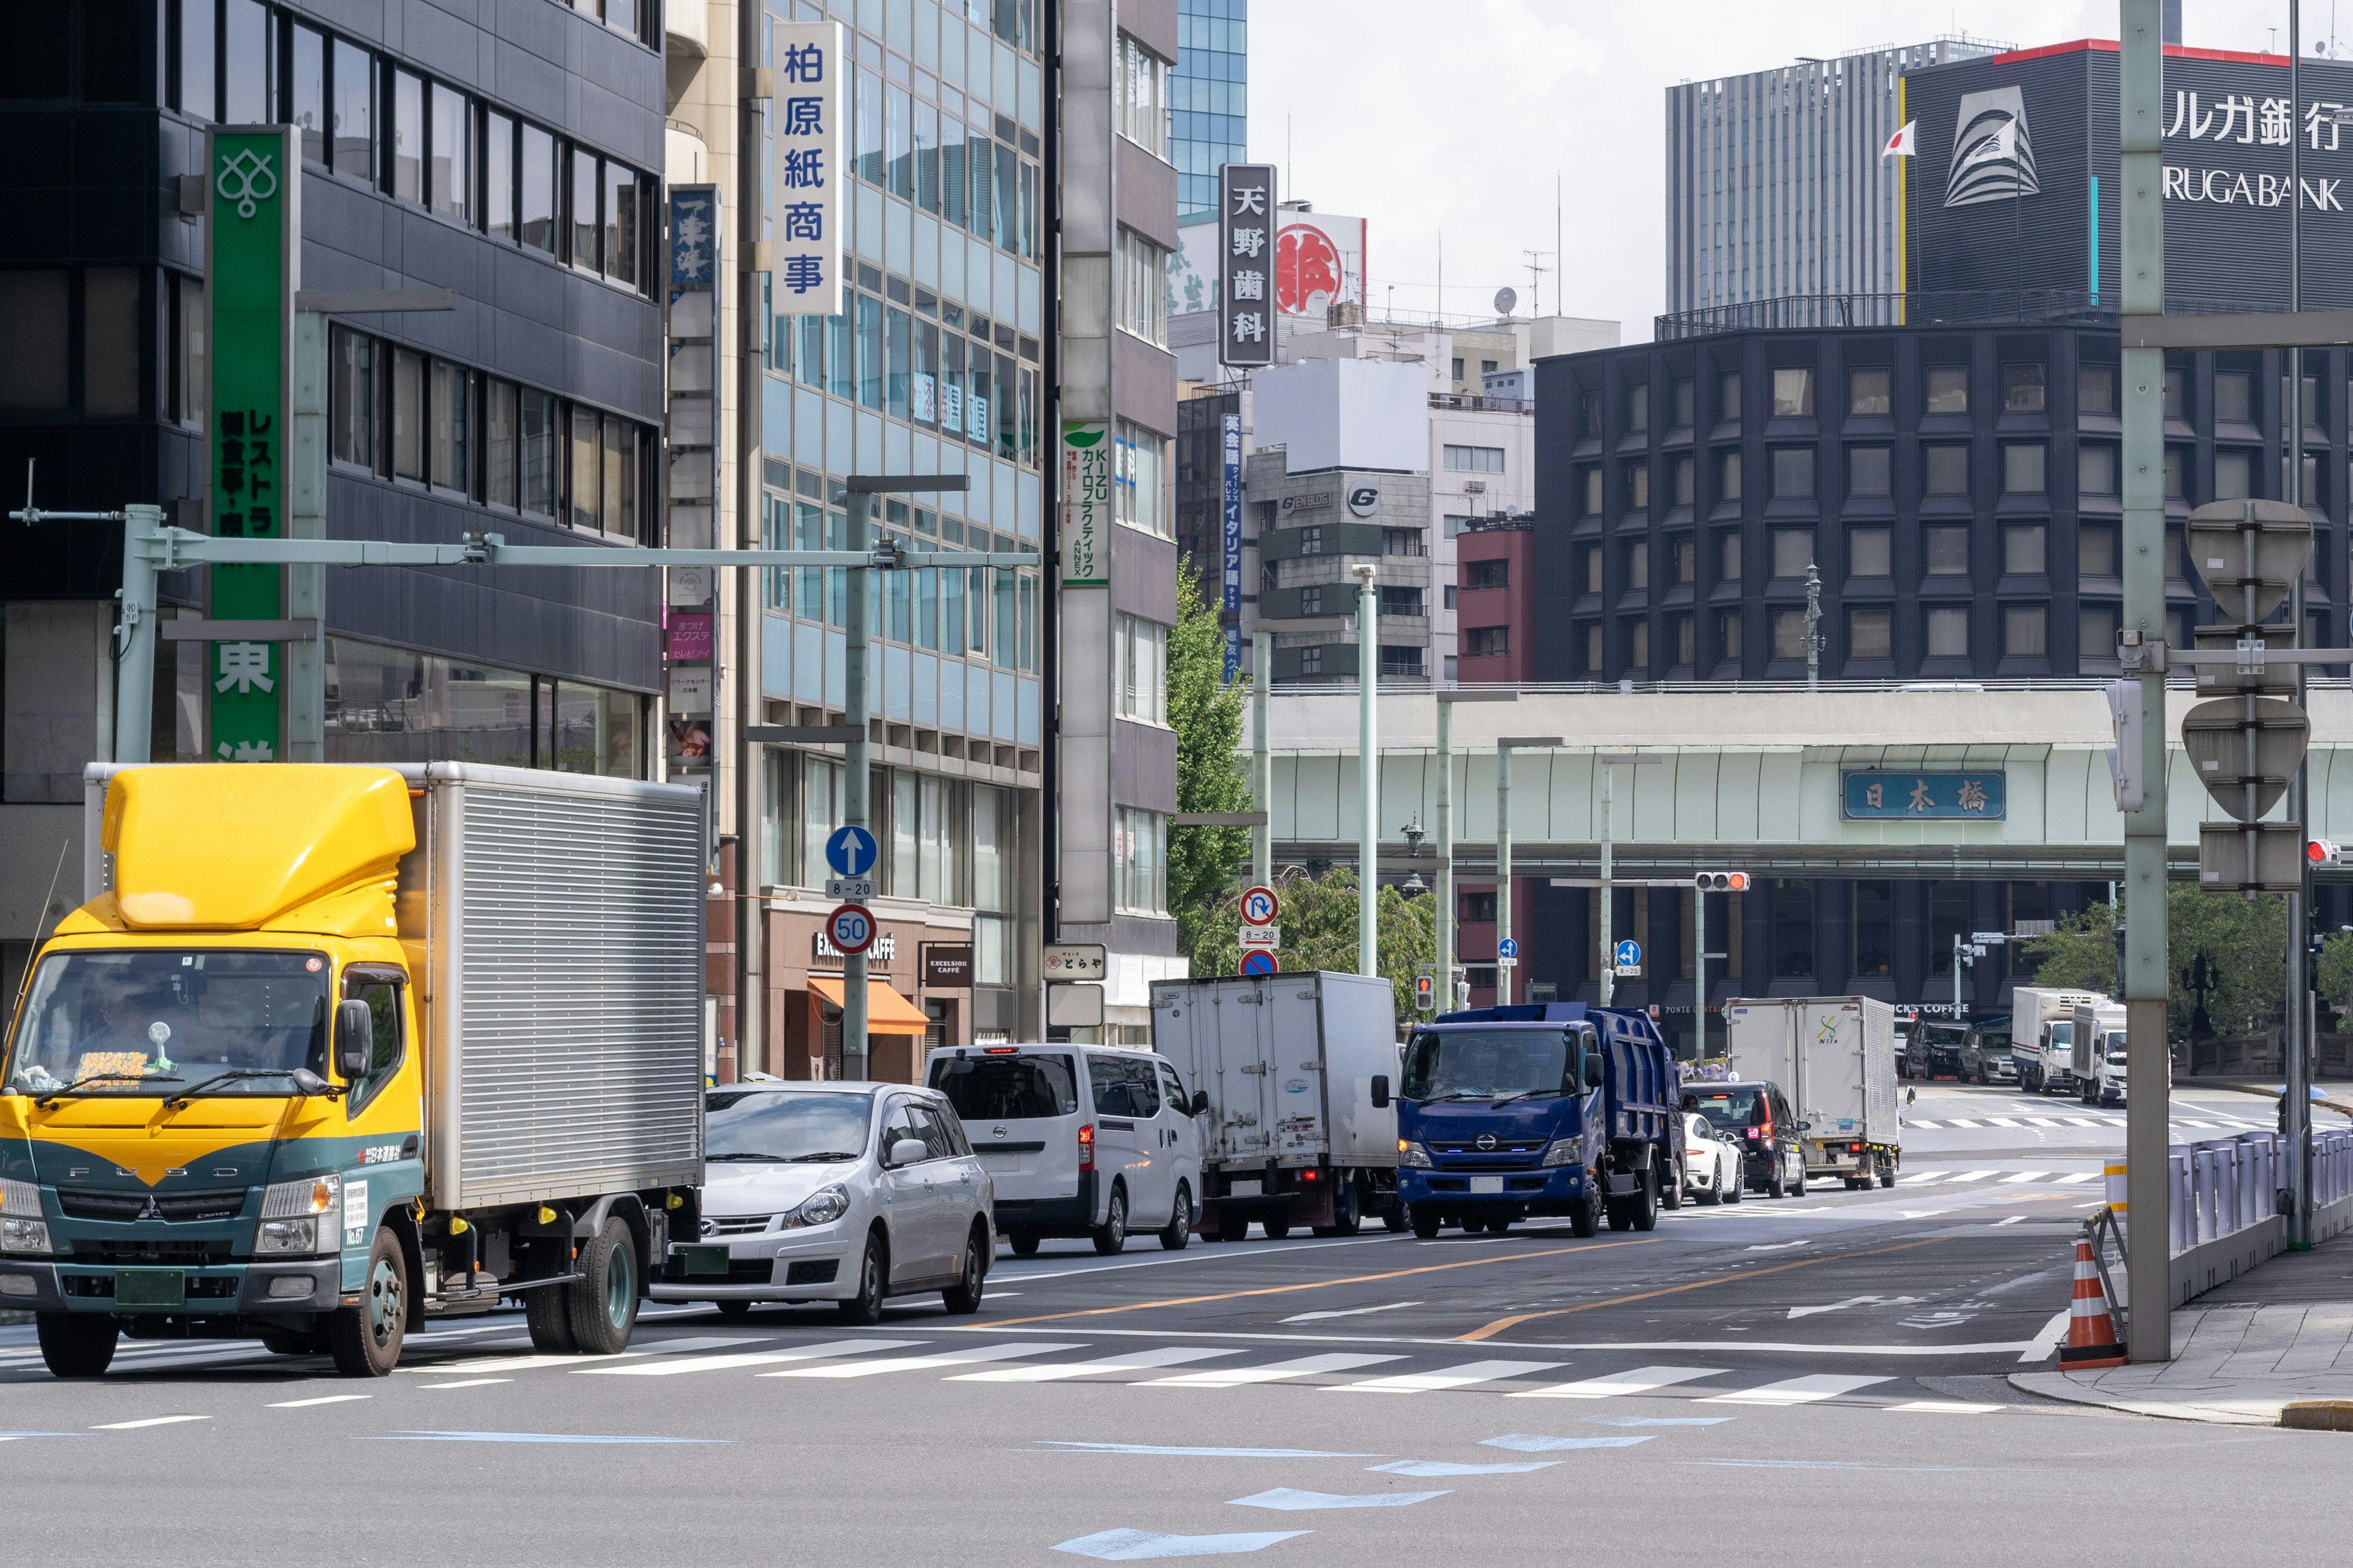
[[[1897,1009],[1875,997],[1767,997],[1725,1004],[1732,1077],[1779,1084],[1798,1110],[1807,1178],[1897,1185]]]

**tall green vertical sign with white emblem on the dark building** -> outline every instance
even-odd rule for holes
[[[287,407],[301,226],[294,127],[214,127],[205,139],[212,176],[212,531],[221,538],[285,538],[292,411]],[[214,621],[285,614],[282,567],[214,567]],[[285,755],[285,644],[214,642],[209,745],[219,762]]]

